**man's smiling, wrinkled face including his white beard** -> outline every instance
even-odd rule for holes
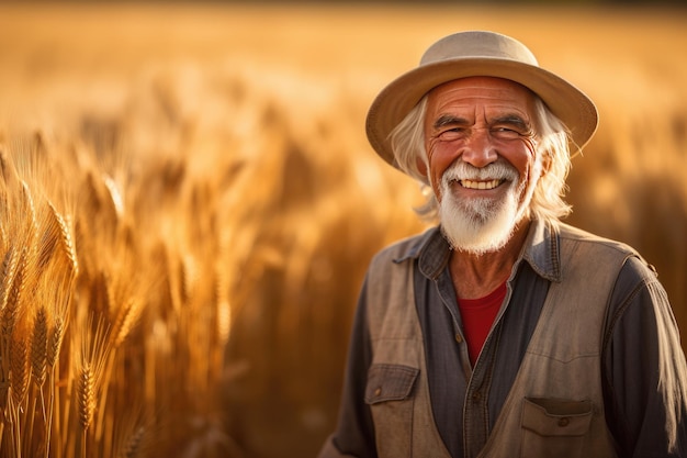
[[[428,177],[455,249],[497,250],[527,214],[541,176],[533,107],[528,89],[499,78],[463,78],[429,92]]]

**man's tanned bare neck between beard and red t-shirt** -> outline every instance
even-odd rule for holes
[[[529,231],[529,221],[518,225],[508,243],[497,252],[475,255],[455,250],[449,269],[461,299],[484,298],[508,279]]]

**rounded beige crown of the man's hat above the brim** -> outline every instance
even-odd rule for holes
[[[471,31],[446,36],[431,45],[420,66],[451,59],[493,58],[539,66],[531,51],[509,36],[494,32]]]

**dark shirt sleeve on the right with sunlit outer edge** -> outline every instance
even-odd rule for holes
[[[606,329],[605,410],[619,456],[685,456],[685,355],[666,292],[639,258],[618,277]]]

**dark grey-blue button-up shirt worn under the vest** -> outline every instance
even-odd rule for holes
[[[425,337],[428,381],[435,423],[452,457],[475,456],[484,446],[522,360],[551,281],[560,266],[555,233],[533,223],[495,326],[471,367],[448,261],[450,248],[438,228],[407,244],[398,262],[415,262],[415,305]],[[594,266],[590,266],[594,268]],[[653,273],[639,258],[630,258],[610,293],[605,324],[602,389],[608,427],[620,456],[668,454],[664,394],[657,389],[665,353],[684,369],[684,355],[661,346],[658,336],[675,337],[669,304]],[[348,456],[375,457],[374,425],[363,393],[370,366],[364,291],[352,332],[340,420],[335,447]],[[665,317],[668,320],[664,320]],[[657,325],[656,323],[660,323]],[[667,331],[658,327],[668,327]],[[642,338],[638,338],[642,336]],[[669,369],[673,370],[673,369]],[[684,383],[678,386],[678,446],[685,446]],[[464,414],[463,414],[464,412]],[[464,432],[464,433],[463,433]],[[466,436],[469,440],[465,440]],[[679,449],[679,447],[678,447]]]

